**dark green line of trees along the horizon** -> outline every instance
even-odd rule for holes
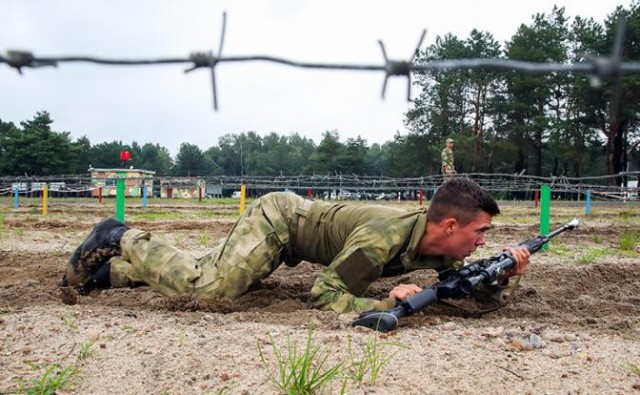
[[[489,32],[436,37],[420,51],[418,64],[492,58],[576,63],[610,56],[619,17],[626,18],[624,61],[640,60],[640,0],[619,6],[604,23],[564,8],[539,13],[502,45]],[[589,54],[589,55],[587,55]],[[458,172],[521,173],[584,177],[618,174],[640,167],[640,76],[614,81],[596,74],[524,73],[490,70],[432,70],[416,73],[420,94],[405,114],[405,133],[369,145],[358,136],[341,141],[327,130],[322,140],[299,134],[248,131],[226,134],[202,150],[182,143],[177,155],[151,142],[92,144],[83,136],[54,131],[47,111],[15,125],[0,119],[0,175],[86,174],[89,167],[117,168],[127,150],[135,168],[157,175],[261,176],[359,174],[419,177],[438,174],[440,151],[454,138]]]

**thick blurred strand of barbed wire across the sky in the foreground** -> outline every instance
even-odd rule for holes
[[[387,81],[389,77],[404,76],[407,77],[407,100],[411,100],[411,75],[415,72],[427,72],[434,70],[498,70],[498,71],[521,71],[526,73],[587,73],[590,76],[591,84],[594,87],[602,86],[604,80],[612,81],[611,91],[611,113],[615,117],[617,106],[622,91],[622,75],[640,73],[640,62],[624,62],[622,60],[622,45],[625,31],[625,18],[621,14],[618,19],[616,37],[613,43],[611,55],[608,57],[593,56],[584,54],[584,62],[577,63],[540,63],[514,59],[490,59],[490,58],[473,58],[473,59],[455,59],[455,60],[439,60],[414,63],[414,58],[420,51],[420,47],[426,35],[423,30],[417,47],[409,60],[391,60],[387,57],[384,43],[378,40],[382,51],[383,64],[378,65],[358,65],[358,64],[339,64],[339,63],[311,63],[298,62],[295,60],[285,59],[281,57],[250,55],[250,56],[223,56],[222,49],[226,33],[227,15],[222,16],[222,32],[217,53],[194,52],[187,58],[160,58],[160,59],[107,59],[91,56],[56,56],[56,57],[37,57],[29,51],[8,50],[6,56],[0,55],[0,63],[16,69],[22,74],[23,68],[38,68],[45,66],[57,67],[63,62],[88,62],[102,65],[120,65],[120,66],[140,66],[140,65],[164,65],[164,64],[183,64],[189,63],[192,66],[185,70],[185,73],[191,72],[198,68],[208,68],[211,71],[211,84],[213,92],[213,107],[218,110],[218,94],[216,89],[215,68],[219,63],[233,62],[254,62],[265,61],[271,63],[282,64],[285,66],[323,69],[323,70],[351,70],[351,71],[382,71],[384,72],[384,81],[382,85],[382,98],[385,97]]]

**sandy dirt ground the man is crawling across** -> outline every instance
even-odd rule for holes
[[[145,217],[134,207],[127,223],[196,256],[233,222],[233,216],[203,219],[205,212],[229,210],[222,206],[152,209],[184,219]],[[618,249],[622,234],[640,232],[640,209],[554,213],[552,229],[573,216],[581,227],[532,258],[512,303],[481,317],[432,306],[379,334],[352,327],[355,314],[306,307],[319,270],[310,263],[278,269],[235,303],[168,298],[145,287],[62,303],[58,282],[70,254],[112,208],[54,204],[46,217],[33,207],[4,208],[0,393],[24,391],[57,364],[49,376],[76,372],[58,394],[277,394],[276,351],[304,351],[310,326],[325,366],[353,365],[371,345],[374,361],[386,362],[377,375],[344,376],[350,378],[324,393],[339,393],[343,382],[348,394],[640,393],[640,372],[632,369],[640,369],[640,253]],[[503,207],[477,257],[535,236],[537,215],[532,207]],[[378,281],[367,294],[383,297],[394,284],[434,280],[433,273],[414,272]]]

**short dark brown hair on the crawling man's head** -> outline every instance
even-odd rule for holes
[[[492,217],[500,214],[489,191],[468,178],[452,178],[438,188],[427,210],[427,218],[429,222],[440,222],[445,217],[454,217],[464,226],[480,211]]]

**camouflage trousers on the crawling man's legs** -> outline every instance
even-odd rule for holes
[[[195,258],[156,235],[129,229],[122,255],[111,258],[112,287],[148,284],[167,295],[193,293],[236,298],[292,255],[304,199],[287,192],[267,194],[250,205],[227,238],[211,253]]]

